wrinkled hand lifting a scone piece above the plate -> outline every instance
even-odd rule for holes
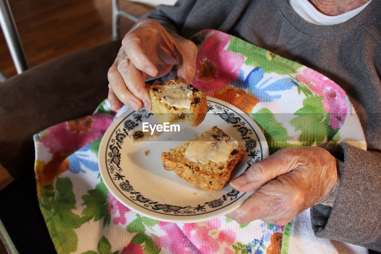
[[[191,82],[196,74],[197,46],[178,34],[169,34],[153,19],[140,21],[122,40],[117,58],[107,73],[108,99],[113,110],[120,102],[134,110],[149,110],[145,81],[165,76],[178,64],[178,77]]]

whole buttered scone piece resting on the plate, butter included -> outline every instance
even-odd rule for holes
[[[221,190],[245,151],[237,140],[217,126],[194,139],[162,153],[164,169],[200,190]]]

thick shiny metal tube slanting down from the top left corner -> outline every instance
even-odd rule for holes
[[[9,51],[11,52],[13,63],[16,66],[17,72],[20,74],[28,69],[28,63],[8,0],[0,0],[0,25],[3,29]]]

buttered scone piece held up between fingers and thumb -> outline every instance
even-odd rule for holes
[[[208,111],[207,95],[184,79],[158,82],[146,88],[152,101],[151,112],[159,124],[185,122],[197,126],[204,120]]]

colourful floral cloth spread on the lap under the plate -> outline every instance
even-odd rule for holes
[[[270,154],[291,146],[331,150],[343,140],[365,149],[354,109],[335,82],[219,31],[205,30],[192,40],[199,47],[192,84],[253,117]],[[93,115],[34,136],[38,201],[58,253],[367,252],[316,238],[309,211],[285,227],[260,220],[239,225],[225,216],[168,223],[131,211],[102,183],[97,159],[102,135],[126,109],[113,112],[105,100]]]

